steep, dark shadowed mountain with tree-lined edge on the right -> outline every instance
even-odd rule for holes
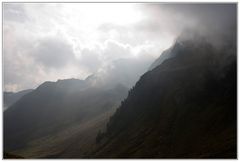
[[[159,61],[166,53],[172,57]],[[86,157],[237,157],[236,45],[178,40],[164,55],[129,91]]]

